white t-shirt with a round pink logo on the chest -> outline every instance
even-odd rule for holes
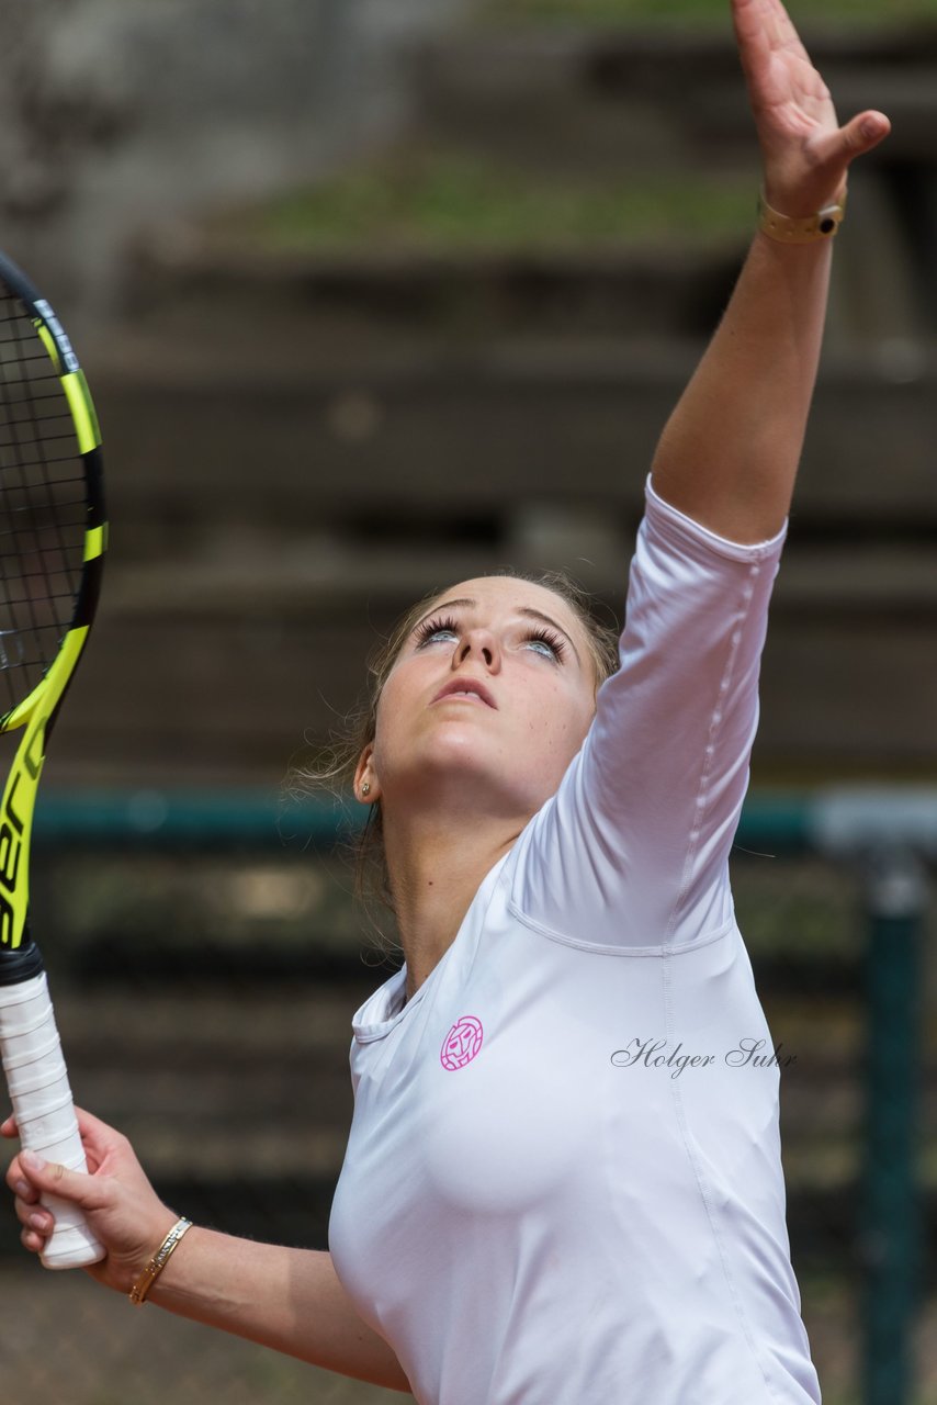
[[[648,479],[582,749],[413,999],[403,967],[353,1019],[329,1243],[420,1405],[820,1399],[728,877],[785,532]]]

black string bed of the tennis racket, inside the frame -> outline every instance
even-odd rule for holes
[[[0,295],[0,711],[41,681],[81,583],[84,465],[67,396],[32,316]]]

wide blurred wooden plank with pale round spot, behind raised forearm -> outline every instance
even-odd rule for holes
[[[183,532],[361,510],[438,521],[503,513],[531,496],[636,513],[697,350],[424,353],[292,382],[111,372],[97,398],[112,516]],[[827,365],[799,518],[936,523],[936,392],[930,350],[892,347]]]

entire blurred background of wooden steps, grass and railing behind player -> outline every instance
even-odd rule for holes
[[[791,10],[893,135],[850,181],[735,887],[825,1401],[937,1405],[937,0]],[[281,785],[424,592],[566,568],[621,624],[753,226],[728,4],[0,14],[0,244],[83,357],[112,524],[34,858],[73,1087],[180,1213],[325,1248],[399,955],[355,806]],[[402,1398],[44,1276],[11,1213],[0,1359],[10,1402]]]

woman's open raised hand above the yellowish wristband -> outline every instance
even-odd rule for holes
[[[795,219],[840,198],[848,166],[888,136],[884,112],[839,125],[829,89],[781,0],[732,0],[739,56],[764,159],[770,205]]]

